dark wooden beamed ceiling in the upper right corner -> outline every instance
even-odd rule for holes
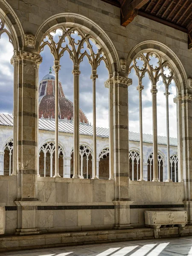
[[[188,33],[192,49],[192,0],[103,0],[121,8],[121,25],[127,26],[135,16],[163,23]]]

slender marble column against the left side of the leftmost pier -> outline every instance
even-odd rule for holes
[[[13,172],[11,175],[17,175],[17,165],[18,165],[18,157],[17,157],[17,140],[18,140],[18,68],[19,68],[19,60],[20,54],[18,51],[14,51],[14,55],[11,59],[11,64],[14,67],[14,93],[13,93]],[[16,142],[16,143],[15,143]]]

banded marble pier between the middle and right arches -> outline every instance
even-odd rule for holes
[[[128,86],[132,80],[114,76],[113,80],[113,157],[115,177],[115,224],[116,229],[130,228],[129,198],[129,146],[128,146]]]

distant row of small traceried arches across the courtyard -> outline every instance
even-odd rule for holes
[[[93,149],[87,145],[79,147],[79,162],[81,166],[81,178],[93,177]],[[4,175],[11,175],[13,169],[13,140],[9,140],[4,148]],[[97,177],[99,179],[109,179],[109,148],[104,148],[99,153],[97,159]],[[71,157],[66,157],[64,148],[58,146],[58,163],[59,175],[61,177],[73,177],[73,150]],[[146,181],[152,181],[153,172],[153,153],[145,157],[144,164],[147,164],[147,172],[143,177]],[[178,182],[178,157],[177,154],[172,154],[169,159],[170,177],[174,182]],[[129,151],[129,177],[130,180],[139,180],[140,170],[140,152],[132,149]],[[49,141],[44,143],[39,150],[39,170],[38,175],[44,177],[53,177],[55,171],[55,142]],[[158,153],[158,179],[165,181],[167,176],[167,164],[165,157]]]

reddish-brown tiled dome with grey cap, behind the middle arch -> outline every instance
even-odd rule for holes
[[[58,85],[59,118],[71,120],[73,119],[73,103],[65,97],[60,81]],[[51,69],[39,84],[39,118],[42,115],[45,119],[55,119],[55,75],[52,74]],[[79,122],[88,123],[88,119],[81,109],[79,110]]]

